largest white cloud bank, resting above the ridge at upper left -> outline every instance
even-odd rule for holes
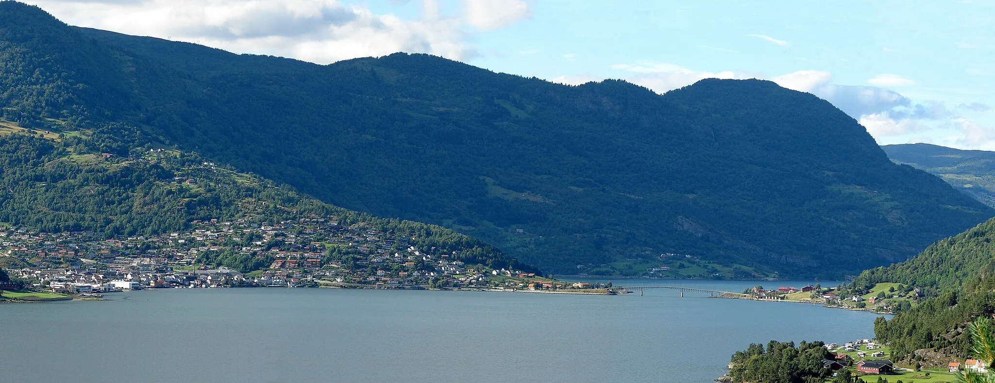
[[[471,31],[493,30],[527,14],[518,0],[465,0],[465,15],[445,17],[423,0],[423,17],[377,14],[335,0],[36,0],[64,22],[114,32],[170,38],[237,53],[327,64],[395,52],[453,60],[476,55]],[[522,8],[524,7],[524,8]],[[467,29],[468,26],[474,28]]]

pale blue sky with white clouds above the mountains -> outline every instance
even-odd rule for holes
[[[659,93],[811,92],[879,144],[995,150],[995,1],[28,0],[75,26],[331,64],[427,53]]]

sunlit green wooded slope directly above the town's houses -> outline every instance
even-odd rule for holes
[[[322,219],[386,233],[398,247],[392,249],[395,252],[403,252],[401,244],[410,243],[470,264],[535,271],[494,246],[453,230],[349,211],[288,186],[206,162],[196,153],[146,146],[139,148],[141,154],[117,157],[93,152],[99,140],[85,132],[52,138],[40,135],[0,135],[3,225],[48,233],[93,231],[113,238],[191,230],[195,220],[243,219],[266,225]],[[269,265],[252,256],[243,261],[237,266],[242,271]]]

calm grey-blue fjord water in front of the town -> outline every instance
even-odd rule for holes
[[[741,291],[751,282],[614,281]],[[794,286],[798,283],[791,285]],[[710,382],[750,342],[873,337],[875,315],[624,296],[169,289],[0,305],[10,382]]]

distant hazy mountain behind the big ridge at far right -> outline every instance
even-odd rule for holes
[[[882,149],[892,161],[936,175],[954,189],[995,207],[995,152],[930,144],[885,145]]]

